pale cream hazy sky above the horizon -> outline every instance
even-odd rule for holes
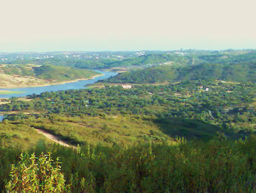
[[[255,0],[8,0],[0,52],[256,49]]]

